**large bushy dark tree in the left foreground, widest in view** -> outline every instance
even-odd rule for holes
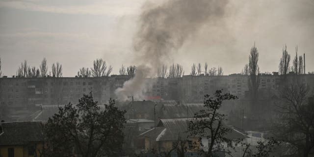
[[[101,109],[93,96],[84,95],[78,105],[59,107],[44,128],[45,157],[117,156],[122,149],[125,111],[114,100]]]

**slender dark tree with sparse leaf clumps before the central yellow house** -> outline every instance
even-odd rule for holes
[[[188,126],[189,135],[192,137],[206,137],[209,139],[209,151],[206,157],[212,157],[214,152],[225,152],[223,143],[231,141],[224,137],[229,131],[229,128],[224,127],[223,123],[226,120],[226,115],[218,113],[222,102],[226,100],[237,99],[236,96],[225,93],[221,94],[221,90],[217,90],[213,97],[205,95],[204,107],[194,115]],[[230,152],[227,152],[230,153]]]

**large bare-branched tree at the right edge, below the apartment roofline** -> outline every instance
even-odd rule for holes
[[[282,90],[283,102],[277,105],[278,119],[273,135],[290,143],[298,157],[308,157],[314,148],[314,94],[300,80]]]

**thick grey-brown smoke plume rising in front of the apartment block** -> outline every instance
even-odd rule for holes
[[[137,71],[115,91],[120,100],[128,96],[141,98],[147,84],[145,78],[156,76],[158,67],[169,61],[170,53],[205,23],[221,18],[227,0],[167,0],[160,5],[146,3],[134,37]]]

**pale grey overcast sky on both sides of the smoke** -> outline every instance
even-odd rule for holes
[[[49,71],[60,62],[66,77],[100,57],[113,66],[113,74],[122,63],[136,65],[132,44],[145,2],[0,0],[4,75],[15,75],[24,59],[38,67],[43,57]],[[262,72],[278,71],[285,43],[291,58],[298,45],[299,54],[306,53],[306,70],[314,71],[314,0],[230,0],[223,18],[207,22],[168,60],[183,64],[185,74],[199,62],[222,66],[225,75],[240,73],[254,41]]]

